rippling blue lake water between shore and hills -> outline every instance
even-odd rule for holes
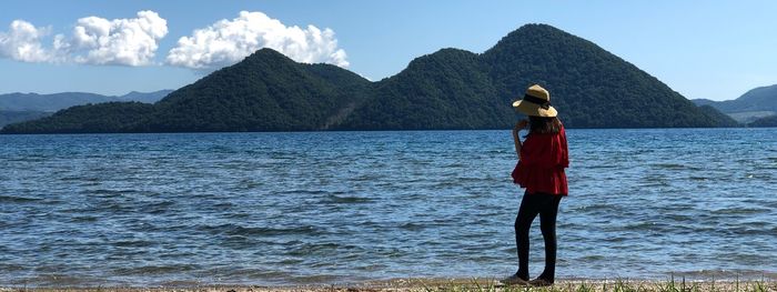
[[[511,139],[0,135],[0,286],[506,276],[523,194]],[[777,129],[568,140],[558,278],[775,276]]]

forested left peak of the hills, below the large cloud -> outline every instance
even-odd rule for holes
[[[294,131],[325,128],[369,81],[334,66],[262,49],[157,103],[143,131]]]

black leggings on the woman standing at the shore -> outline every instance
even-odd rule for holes
[[[545,271],[539,278],[553,283],[556,275],[556,215],[562,195],[547,193],[524,193],[518,215],[515,218],[515,245],[518,248],[518,272],[528,280],[528,230],[539,214],[539,229],[545,240]]]

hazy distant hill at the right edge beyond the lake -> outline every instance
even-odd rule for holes
[[[735,100],[693,100],[697,105],[710,105],[741,123],[777,114],[777,84],[760,87],[745,92]]]

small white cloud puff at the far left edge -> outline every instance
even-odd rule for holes
[[[51,52],[43,49],[40,41],[48,33],[48,28],[36,28],[30,22],[14,20],[8,32],[0,32],[0,57],[23,62],[50,61]]]

